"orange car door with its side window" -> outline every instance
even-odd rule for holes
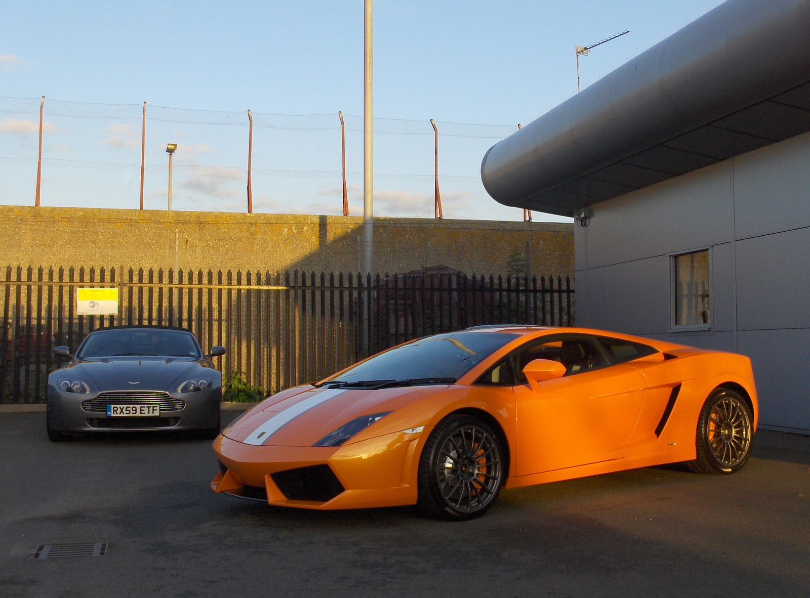
[[[566,374],[531,388],[522,368],[536,358],[563,363]],[[642,409],[646,379],[613,363],[595,337],[542,337],[513,354],[518,417],[518,476],[621,459]]]

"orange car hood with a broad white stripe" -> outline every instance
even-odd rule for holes
[[[228,439],[256,446],[310,447],[330,432],[363,415],[396,412],[446,385],[364,390],[357,388],[290,388],[259,403],[235,424],[224,430]],[[373,423],[357,437],[382,435],[386,420]],[[399,418],[390,416],[389,422]],[[416,426],[419,422],[411,422]],[[407,426],[406,426],[407,427]],[[263,434],[262,434],[263,433]],[[353,440],[353,439],[352,439]],[[349,440],[348,443],[352,443]]]

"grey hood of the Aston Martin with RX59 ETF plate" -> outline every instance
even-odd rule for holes
[[[87,375],[101,392],[108,390],[174,390],[169,388],[182,375],[199,367],[196,362],[173,358],[108,358],[81,362],[71,373]],[[137,382],[138,384],[130,384]],[[180,380],[182,382],[182,380]],[[178,382],[179,384],[179,382]]]

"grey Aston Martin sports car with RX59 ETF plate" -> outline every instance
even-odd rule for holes
[[[48,438],[76,432],[198,430],[220,433],[222,375],[184,329],[121,326],[87,335],[75,357],[48,377]]]

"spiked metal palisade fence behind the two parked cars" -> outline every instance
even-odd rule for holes
[[[79,316],[79,287],[117,287],[118,316]],[[50,371],[93,330],[189,329],[224,375],[268,393],[321,380],[361,358],[428,334],[480,324],[573,325],[568,277],[465,274],[213,272],[105,268],[6,269],[0,280],[2,402],[45,400]],[[366,322],[368,324],[366,324]]]

